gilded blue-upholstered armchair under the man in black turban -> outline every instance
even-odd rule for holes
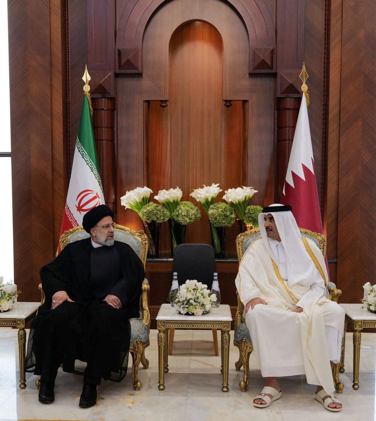
[[[90,235],[82,228],[77,226],[76,228],[65,231],[60,237],[60,248],[63,248],[74,241],[83,240],[88,238]],[[148,240],[146,234],[143,231],[133,231],[122,225],[115,226],[114,239],[116,241],[122,241],[129,244],[138,257],[146,264],[146,256],[148,254]],[[57,253],[56,253],[57,255]],[[41,304],[45,301],[45,295],[42,290],[42,284],[39,285],[39,289],[42,293]],[[148,368],[149,361],[145,357],[145,348],[150,345],[149,342],[149,331],[150,331],[150,313],[148,307],[148,280],[144,280],[142,284],[142,293],[140,296],[140,317],[130,319],[131,336],[130,336],[130,348],[129,352],[132,355],[132,384],[135,390],[140,390],[141,382],[138,380],[138,368],[141,364],[143,368]],[[35,382],[39,389],[40,380]]]

